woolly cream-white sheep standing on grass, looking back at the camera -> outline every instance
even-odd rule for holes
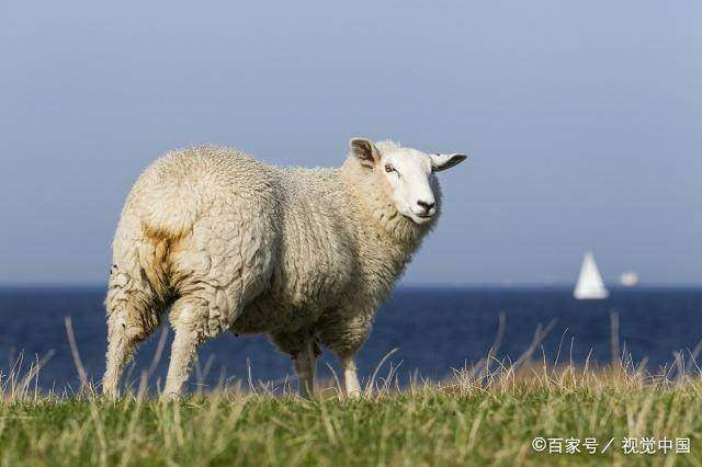
[[[105,395],[136,346],[174,329],[163,395],[179,397],[197,346],[265,333],[312,397],[320,345],[361,392],[355,354],[441,208],[435,172],[465,155],[353,138],[338,169],[276,168],[235,149],[167,152],[129,192],[113,242]]]

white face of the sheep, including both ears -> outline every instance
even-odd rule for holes
[[[424,224],[437,214],[439,182],[435,172],[452,168],[466,159],[465,155],[428,155],[394,144],[378,144],[354,138],[351,152],[387,190],[397,212],[415,224]]]

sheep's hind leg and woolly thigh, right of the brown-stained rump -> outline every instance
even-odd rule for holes
[[[197,346],[229,329],[271,276],[272,227],[256,206],[237,203],[216,201],[171,254],[181,296],[170,314],[176,338],[163,394],[169,399],[181,395]]]

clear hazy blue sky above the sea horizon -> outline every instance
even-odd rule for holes
[[[467,152],[405,284],[702,285],[702,3],[12,2],[0,284],[104,284],[162,152],[336,167],[355,136]]]

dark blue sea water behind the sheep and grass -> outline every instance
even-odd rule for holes
[[[67,340],[65,317],[70,317],[88,376],[99,380],[104,369],[105,314],[101,288],[0,288],[0,369],[7,375],[20,354],[24,366],[53,351],[41,373],[43,388],[76,387],[78,376]],[[702,288],[614,289],[608,300],[577,301],[567,288],[399,288],[377,312],[366,345],[359,354],[360,374],[370,377],[383,356],[394,349],[387,365],[398,366],[400,379],[418,373],[428,378],[450,376],[452,368],[478,362],[495,342],[503,315],[498,357],[517,360],[541,324],[553,322],[536,357],[553,363],[573,358],[582,364],[611,360],[610,317],[619,317],[620,348],[633,361],[647,358],[652,373],[673,361],[673,353],[692,350],[702,340]],[[172,333],[171,333],[172,334]],[[154,357],[160,331],[138,351],[132,378]],[[171,335],[169,335],[170,339]],[[170,341],[169,341],[170,344]],[[151,378],[162,379],[168,350]],[[688,353],[689,355],[689,353]],[[292,374],[291,362],[264,337],[225,334],[204,344],[200,366],[211,363],[201,384],[280,381]],[[318,365],[336,360],[325,353]],[[4,378],[4,377],[3,377]],[[195,377],[191,389],[195,385]]]

